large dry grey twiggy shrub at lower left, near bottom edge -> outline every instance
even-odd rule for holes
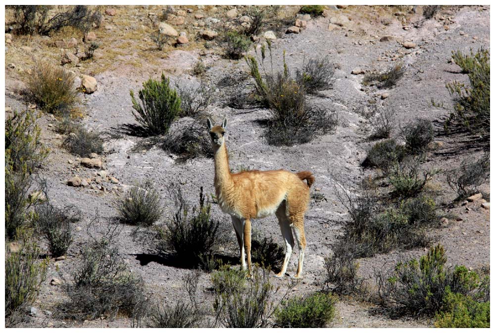
[[[99,223],[97,219],[93,222]],[[129,273],[117,248],[111,246],[117,235],[116,227],[109,224],[104,235],[92,235],[81,251],[81,258],[64,289],[68,300],[58,305],[59,316],[74,320],[93,320],[117,314],[132,318],[140,325],[146,314],[143,279]]]

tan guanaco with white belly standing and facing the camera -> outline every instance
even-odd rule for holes
[[[222,125],[226,127],[226,124],[227,120],[225,119]],[[306,247],[304,213],[309,202],[309,187],[314,183],[313,175],[309,171],[294,174],[286,170],[250,170],[232,174],[225,144],[225,128],[212,126],[208,119],[208,129],[215,158],[216,197],[222,211],[232,216],[243,268],[246,266],[243,250],[246,250],[247,268],[251,272],[250,220],[276,214],[282,237],[286,241],[284,265],[277,276],[283,276],[287,270],[294,246],[294,232],[299,248],[299,263],[296,274],[296,277],[299,277],[302,272],[302,261]],[[306,180],[307,185],[303,182],[304,180]],[[244,227],[241,226],[242,223],[244,223]]]

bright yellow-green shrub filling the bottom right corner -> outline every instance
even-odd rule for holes
[[[450,290],[444,296],[444,308],[435,315],[437,328],[490,328],[490,302]]]

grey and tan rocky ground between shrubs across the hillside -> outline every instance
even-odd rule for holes
[[[372,100],[380,107],[392,109],[397,124],[405,124],[416,117],[437,121],[452,109],[445,84],[453,80],[467,80],[460,68],[450,61],[451,51],[459,49],[468,52],[470,48],[490,46],[489,6],[444,7],[434,19],[421,25],[415,24],[422,19],[420,6],[416,13],[412,6],[341,7],[343,8],[329,6],[324,16],[320,17],[298,16],[297,25],[301,27],[293,28],[297,33],[285,34],[290,24],[296,24],[295,13],[298,7],[284,6],[281,16],[293,18],[290,21],[292,23],[278,30],[273,25],[275,36],[262,32],[257,42],[262,43],[264,36],[276,38],[273,40],[273,63],[277,70],[281,68],[283,50],[286,50],[286,61],[293,71],[300,68],[305,59],[314,56],[327,55],[336,64],[332,89],[322,92],[317,98],[318,102],[325,103],[337,112],[339,125],[335,132],[318,137],[310,143],[275,147],[268,145],[263,137],[264,127],[260,120],[269,116],[267,110],[233,109],[224,106],[222,100],[217,100],[207,109],[217,123],[224,115],[229,118],[227,147],[232,168],[242,165],[259,170],[309,170],[315,175],[315,188],[326,198],[321,202],[311,202],[306,213],[304,276],[293,294],[307,294],[321,288],[326,274],[324,258],[332,253],[332,245],[336,237],[342,234],[344,221],[349,218],[347,210],[336,196],[332,175],[338,175],[349,186],[355,185],[362,177],[360,164],[366,157],[367,149],[373,144],[367,139],[369,126],[363,115],[363,106]],[[175,29],[177,36],[172,38],[172,44],[179,43],[176,41],[179,37],[185,37],[182,39],[185,44],[179,43],[175,47],[166,45],[161,51],[155,49],[149,34],[158,28],[169,28],[160,23],[162,7],[109,6],[102,7],[101,10],[105,12],[103,22],[99,28],[93,30],[96,41],[101,44],[95,51],[94,59],[79,62],[75,54],[76,58],[71,56],[74,61],[65,65],[78,76],[89,75],[96,79],[97,90],[90,95],[81,94],[81,109],[84,113],[82,121],[90,129],[108,131],[126,123],[135,123],[129,90],[138,91],[144,81],[149,77],[157,78],[161,72],[174,82],[197,84],[199,79],[190,74],[191,68],[198,60],[202,60],[208,67],[203,79],[215,84],[226,75],[247,70],[244,60],[225,59],[221,48],[205,41],[214,32],[221,31],[225,22],[242,18],[242,6],[175,6],[161,23],[167,23]],[[8,18],[7,16],[7,22]],[[174,35],[174,32],[170,34]],[[72,38],[75,38],[75,42]],[[59,64],[65,54],[72,52],[68,43],[72,41],[82,44],[82,35],[75,31],[63,31],[51,37],[6,35],[5,39],[6,116],[11,110],[23,109],[23,104],[28,102],[23,94],[23,77],[29,75],[34,59],[45,58]],[[392,89],[379,90],[362,85],[364,73],[384,70],[399,62],[404,64],[406,71]],[[223,89],[218,88],[216,94],[223,96]],[[443,102],[444,107],[432,106],[431,98],[436,102]],[[49,114],[44,114],[40,120],[42,140],[51,149],[41,174],[47,179],[50,201],[57,207],[75,205],[81,209],[83,219],[75,226],[75,241],[66,258],[51,261],[47,280],[34,305],[39,310],[38,314],[25,325],[129,327],[130,320],[126,318],[103,318],[84,323],[62,322],[50,318],[44,311],[52,310],[53,305],[63,299],[61,287],[50,285],[50,281],[59,278],[60,272],[70,272],[78,261],[79,249],[88,238],[86,226],[95,212],[98,211],[103,218],[115,217],[113,202],[130,185],[146,179],[152,180],[159,190],[167,214],[170,214],[173,207],[166,188],[171,182],[183,184],[188,200],[194,203],[197,202],[199,187],[203,187],[206,193],[214,192],[213,160],[201,157],[179,163],[177,156],[156,145],[136,149],[142,139],[124,135],[105,143],[105,153],[95,157],[101,161],[101,167],[97,165],[96,168],[88,168],[85,161],[61,148],[64,138],[55,134],[55,123],[55,118]],[[438,129],[440,131],[440,127]],[[396,134],[397,132],[393,136]],[[439,148],[430,153],[427,161],[429,167],[447,170],[458,166],[465,158],[477,158],[483,153],[476,147],[467,148],[460,137],[439,136],[436,140]],[[75,176],[81,180],[89,179],[87,186],[68,186],[67,180]],[[437,190],[438,203],[449,203],[456,196],[446,185],[443,174],[437,175],[430,186]],[[489,193],[489,184],[480,190]],[[313,191],[312,189],[311,192]],[[212,210],[214,217],[221,221],[221,229],[229,240],[223,246],[225,253],[236,257],[237,243],[230,217],[223,214],[217,205],[213,205]],[[448,262],[472,269],[489,265],[490,210],[482,208],[481,201],[475,201],[465,206],[446,208],[440,213],[458,217],[450,219],[442,226],[439,221],[439,228],[430,231],[435,242],[444,244]],[[253,228],[263,235],[272,235],[282,244],[275,217],[256,220]],[[138,260],[140,254],[150,254],[152,250],[147,242],[136,241],[132,237],[133,230],[132,227],[122,226],[115,245],[119,247],[131,270],[144,278],[148,296],[153,301],[166,304],[173,304],[178,298],[187,297],[181,278],[188,270],[164,265],[159,260]],[[390,267],[399,256],[418,257],[425,250],[397,250],[360,259],[359,274],[373,285],[374,268],[383,265]],[[295,252],[288,269],[290,276],[294,276],[296,271],[297,250]],[[58,268],[55,269],[56,267]],[[289,279],[286,277],[278,280],[273,277],[271,280],[283,289]],[[212,301],[212,295],[207,289],[209,285],[209,274],[202,273],[198,290],[200,299],[205,304]],[[341,299],[337,305],[338,317],[331,325],[432,326],[429,321],[392,320],[377,316],[370,311],[373,308],[374,305],[370,303],[352,298]]]

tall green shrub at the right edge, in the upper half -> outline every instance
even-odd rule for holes
[[[444,123],[446,131],[457,128],[479,134],[488,142],[490,138],[490,51],[484,48],[469,55],[453,52],[456,64],[468,74],[469,86],[457,81],[447,83],[453,97],[454,111]]]

